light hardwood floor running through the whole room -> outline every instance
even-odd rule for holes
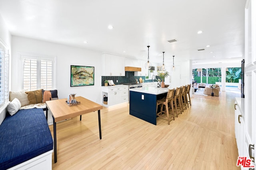
[[[234,134],[234,98],[192,95],[192,106],[168,125],[152,125],[129,115],[129,104],[101,110],[102,140],[97,112],[57,123],[58,162],[63,169],[234,170],[238,150]],[[52,132],[52,125],[49,126]],[[52,132],[53,134],[53,132]]]

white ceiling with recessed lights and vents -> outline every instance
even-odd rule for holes
[[[0,14],[12,35],[144,60],[150,45],[150,61],[156,63],[162,62],[162,51],[166,63],[172,63],[172,55],[175,60],[192,59],[197,64],[220,60],[240,63],[244,56],[245,3],[246,0],[0,0]],[[108,29],[110,24],[113,29]],[[198,34],[199,30],[203,33]],[[178,41],[169,43],[171,39]]]

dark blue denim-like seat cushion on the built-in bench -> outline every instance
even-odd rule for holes
[[[19,110],[0,125],[0,169],[30,160],[53,148],[43,109]]]

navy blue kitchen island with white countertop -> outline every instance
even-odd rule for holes
[[[169,88],[132,88],[130,93],[130,115],[156,125],[156,101],[166,97]]]

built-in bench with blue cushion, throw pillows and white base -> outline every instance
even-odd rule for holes
[[[56,95],[42,89],[10,92],[9,115],[0,125],[0,170],[52,169],[53,139],[44,109]]]

